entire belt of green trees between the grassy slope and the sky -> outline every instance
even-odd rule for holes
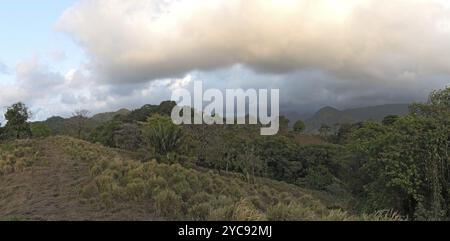
[[[57,129],[54,121],[33,128],[26,107],[17,104],[5,115],[2,138],[67,134],[132,151],[143,162],[239,173],[248,183],[268,177],[328,192],[349,200],[342,208],[353,212],[390,210],[411,220],[450,217],[450,88],[412,104],[407,116],[342,124],[335,131],[322,126],[324,144],[317,145],[300,143],[304,124],[290,130],[285,118],[276,136],[260,136],[253,125],[175,126],[169,117],[174,105],[146,105],[95,125],[85,116],[76,125],[59,120]]]

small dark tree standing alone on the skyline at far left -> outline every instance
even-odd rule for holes
[[[5,113],[5,119],[8,121],[5,126],[5,131],[14,136],[16,139],[23,137],[31,137],[30,124],[28,119],[31,112],[24,103],[16,103],[8,107]]]

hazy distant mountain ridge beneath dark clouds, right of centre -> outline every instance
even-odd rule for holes
[[[338,110],[333,107],[324,107],[305,121],[308,130],[316,130],[322,124],[334,126],[343,123],[356,123],[360,121],[381,122],[388,115],[404,116],[409,113],[409,104],[389,104],[361,108]]]

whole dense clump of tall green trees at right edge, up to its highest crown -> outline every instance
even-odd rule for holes
[[[412,219],[446,220],[450,211],[450,91],[390,125],[364,123],[348,145],[348,180],[366,211],[393,209]]]

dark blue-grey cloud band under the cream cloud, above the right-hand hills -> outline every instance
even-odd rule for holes
[[[449,83],[445,76],[433,76],[379,84],[364,79],[339,78],[320,70],[262,75],[243,65],[214,72],[194,72],[192,75],[195,80],[204,80],[205,89],[280,89],[282,111],[298,113],[314,112],[324,106],[345,109],[426,101],[430,91]]]

